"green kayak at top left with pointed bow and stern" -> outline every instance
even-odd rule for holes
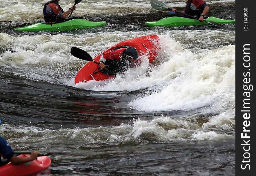
[[[104,26],[106,21],[93,22],[86,19],[72,19],[61,23],[47,24],[45,22],[35,23],[29,26],[14,28],[16,31],[71,31],[77,29]]]

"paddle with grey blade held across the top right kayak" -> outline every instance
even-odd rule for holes
[[[158,1],[158,0],[151,0],[150,4],[151,4],[152,8],[157,9],[157,10],[172,10],[171,8],[167,7],[164,3],[162,3],[161,1]],[[175,11],[175,12],[199,20],[197,17],[188,15],[187,13],[182,13],[182,12],[179,12],[179,11]],[[206,20],[204,20],[204,22],[206,22],[206,23],[208,23],[208,24],[210,24],[210,25],[212,25],[212,26],[214,26],[216,28],[220,28],[220,27],[223,26],[222,24],[214,22],[214,21],[206,21]]]

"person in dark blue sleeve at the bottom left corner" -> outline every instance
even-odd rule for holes
[[[0,126],[1,126],[1,119],[0,119]],[[9,143],[2,136],[0,136],[0,165],[2,162],[1,157],[3,159],[7,159],[12,164],[17,165],[17,164],[23,164],[29,161],[33,161],[34,159],[37,158],[38,155],[39,155],[39,152],[34,151],[31,153],[29,157],[26,157],[26,158],[16,157]]]

